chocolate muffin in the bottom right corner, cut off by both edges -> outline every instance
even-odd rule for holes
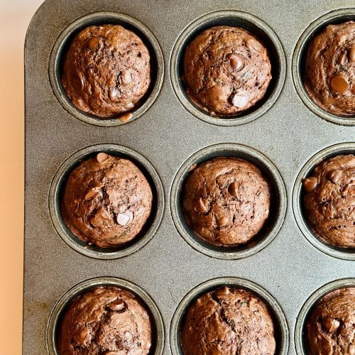
[[[307,354],[354,355],[355,288],[342,288],[322,297],[306,324]]]

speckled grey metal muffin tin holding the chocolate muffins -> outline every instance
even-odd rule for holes
[[[310,37],[309,26],[318,31],[334,18],[339,21],[339,14],[354,18],[351,1],[334,6],[325,0],[43,3],[25,46],[24,354],[55,354],[55,320],[67,300],[94,284],[111,282],[131,289],[153,315],[161,315],[161,331],[155,334],[161,347],[155,354],[181,354],[177,317],[196,295],[221,284],[258,293],[273,308],[278,354],[303,354],[300,324],[310,295],[327,283],[337,288],[338,283],[355,284],[354,251],[320,245],[307,229],[300,204],[301,180],[319,158],[354,152],[354,119],[321,119],[324,115],[297,94],[302,90],[297,81],[300,43]],[[78,111],[60,86],[67,40],[93,23],[121,23],[141,35],[153,53],[153,85],[129,121],[102,121]],[[233,119],[212,118],[193,107],[181,82],[184,45],[193,33],[217,24],[256,31],[266,45],[274,45],[271,92],[255,110]],[[99,151],[131,158],[155,190],[151,223],[136,243],[121,250],[84,248],[58,214],[66,174]],[[179,204],[188,169],[217,155],[256,163],[275,192],[265,233],[231,253],[199,244]]]

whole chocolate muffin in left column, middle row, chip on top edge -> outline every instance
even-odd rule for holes
[[[153,194],[130,160],[99,153],[72,170],[62,198],[62,217],[77,237],[102,248],[121,246],[141,231]]]

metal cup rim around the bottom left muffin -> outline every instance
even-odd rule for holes
[[[58,326],[62,320],[65,308],[70,301],[77,295],[98,286],[116,286],[124,290],[128,290],[136,295],[143,304],[146,305],[148,312],[151,315],[153,330],[153,342],[150,354],[161,355],[164,349],[164,324],[157,305],[152,300],[151,296],[138,285],[131,283],[121,278],[102,277],[92,278],[78,283],[73,288],[70,288],[55,304],[46,329],[47,350],[50,355],[59,355],[57,347]]]

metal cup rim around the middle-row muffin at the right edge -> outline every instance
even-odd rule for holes
[[[293,187],[293,214],[295,216],[296,222],[302,234],[307,238],[307,240],[315,246],[317,249],[326,253],[329,256],[334,258],[345,259],[345,260],[355,260],[355,250],[354,248],[341,248],[339,246],[332,246],[327,244],[324,241],[313,233],[310,226],[307,224],[307,220],[302,212],[302,198],[303,198],[303,189],[302,189],[302,180],[307,178],[312,170],[318,165],[322,160],[327,160],[336,155],[341,154],[355,154],[355,143],[340,143],[324,148],[322,151],[316,153],[310,158],[310,160],[305,163],[300,173],[297,176],[295,185]]]

